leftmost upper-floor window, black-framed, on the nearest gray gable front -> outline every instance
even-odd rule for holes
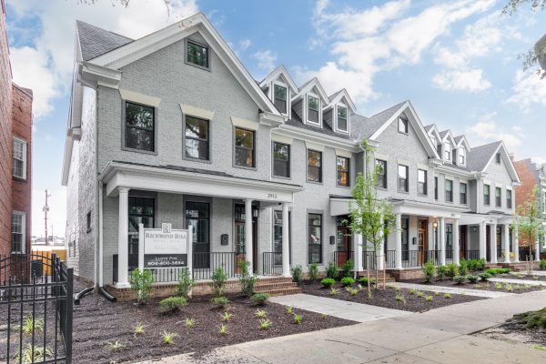
[[[152,106],[126,102],[125,147],[155,151],[155,109]]]

